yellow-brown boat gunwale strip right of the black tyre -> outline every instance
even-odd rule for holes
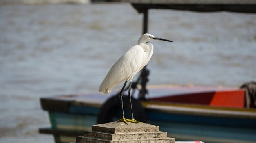
[[[229,117],[239,119],[256,119],[256,109],[205,106],[196,104],[180,104],[156,101],[144,101],[141,102],[141,104],[145,109],[158,111],[161,113]]]

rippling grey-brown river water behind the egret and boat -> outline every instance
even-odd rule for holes
[[[53,143],[39,98],[97,92],[141,25],[130,4],[0,5],[0,142]],[[149,85],[256,80],[255,14],[150,10],[148,32],[173,41],[152,42]]]

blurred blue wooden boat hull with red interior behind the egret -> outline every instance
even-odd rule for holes
[[[65,143],[75,141],[76,136],[82,136],[94,124],[116,121],[121,117],[117,93],[41,98],[52,127],[41,128],[40,133],[53,134],[56,143]],[[159,126],[176,140],[256,142],[256,110],[245,108],[245,89],[157,85],[148,87],[146,100],[132,100],[135,119]],[[128,111],[125,116],[129,117]]]

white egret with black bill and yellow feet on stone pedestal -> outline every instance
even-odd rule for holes
[[[148,41],[153,40],[162,40],[162,41],[168,41],[172,42],[170,40],[157,38],[151,34],[144,34],[141,35],[138,41],[138,45],[133,46],[128,50],[123,56],[121,56],[117,62],[111,67],[108,74],[104,78],[103,82],[101,83],[99,87],[99,92],[102,92],[102,94],[109,94],[115,86],[117,86],[119,83],[124,82],[124,86],[122,87],[119,98],[120,98],[120,104],[121,104],[121,112],[122,112],[122,119],[117,121],[124,121],[124,123],[128,124],[127,122],[132,123],[138,123],[139,121],[136,121],[133,118],[132,113],[132,103],[131,103],[131,85],[132,85],[132,78],[139,72],[145,65],[148,64],[148,61],[150,60],[154,47],[151,43],[148,43]],[[124,107],[123,107],[123,91],[124,87],[126,86],[127,81],[130,80],[129,90],[128,90],[128,99],[129,99],[129,106],[131,111],[131,117],[132,119],[125,119],[124,118]]]

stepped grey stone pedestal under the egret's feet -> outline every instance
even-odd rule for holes
[[[92,126],[84,136],[76,137],[75,143],[174,143],[159,126],[145,123],[111,122]]]

